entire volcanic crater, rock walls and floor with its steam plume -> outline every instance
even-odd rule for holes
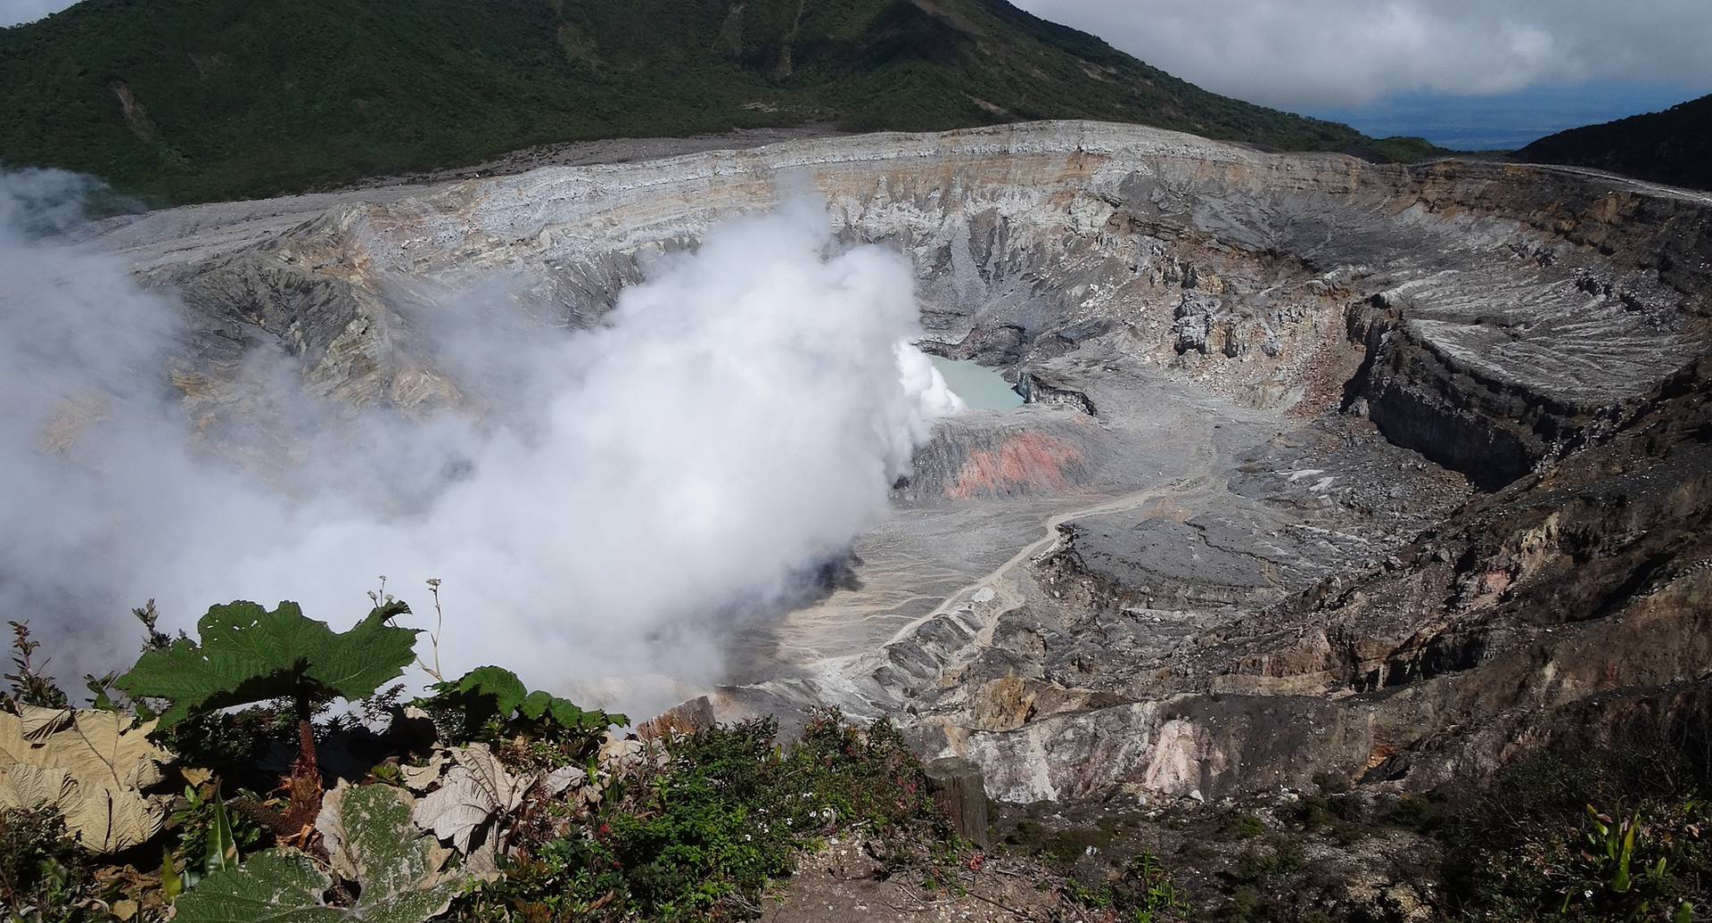
[[[45,601],[337,620],[442,577],[457,670],[902,716],[1005,800],[1428,784],[1596,709],[1577,651],[1707,664],[1707,467],[1674,466],[1709,228],[1620,180],[1099,123],[127,216],[51,253],[171,305],[125,363],[151,452],[70,464],[123,433],[94,413],[9,464],[156,507],[72,505],[0,567],[67,627]]]

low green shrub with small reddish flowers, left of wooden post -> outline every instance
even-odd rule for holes
[[[746,920],[767,882],[834,831],[883,843],[875,851],[894,868],[943,836],[921,765],[889,723],[863,731],[827,712],[788,748],[774,743],[777,729],[755,719],[671,743],[666,765],[608,791],[586,836],[526,849],[459,913]]]

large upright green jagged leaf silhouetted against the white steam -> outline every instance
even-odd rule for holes
[[[390,603],[341,634],[306,618],[296,603],[272,611],[248,601],[212,606],[197,622],[199,640],[146,652],[115,685],[132,699],[171,702],[163,729],[192,714],[284,695],[361,699],[414,659],[416,630],[387,623],[407,611]]]

